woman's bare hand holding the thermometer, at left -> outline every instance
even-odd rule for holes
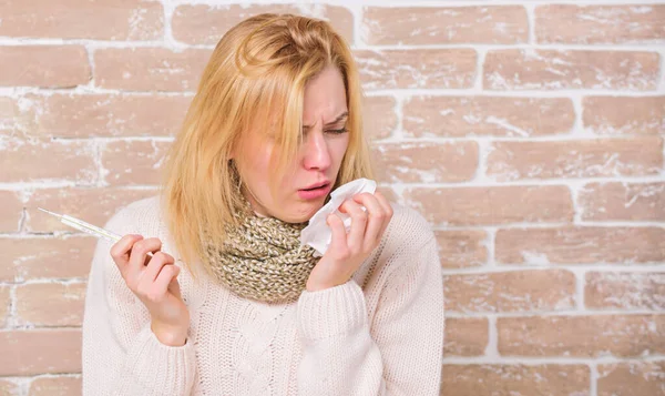
[[[162,242],[156,237],[144,240],[129,234],[111,247],[111,256],[127,287],[150,312],[155,336],[162,344],[181,346],[187,339],[190,311],[177,282],[180,267],[161,248]]]

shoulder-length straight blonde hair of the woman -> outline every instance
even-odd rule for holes
[[[275,174],[296,158],[301,141],[303,98],[309,80],[332,65],[345,83],[349,144],[336,185],[372,177],[362,133],[362,91],[349,45],[323,20],[263,13],[233,27],[219,40],[203,71],[196,95],[166,155],[161,204],[184,265],[203,257],[203,230],[215,246],[242,204],[231,161],[244,133],[257,122],[275,131]],[[277,159],[277,161],[275,161]],[[267,177],[275,191],[276,177]],[[204,265],[211,273],[211,268]]]

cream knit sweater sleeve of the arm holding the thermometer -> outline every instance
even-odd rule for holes
[[[105,229],[121,235],[136,233],[125,212],[113,216]],[[88,280],[83,395],[190,395],[196,367],[194,346],[187,341],[172,347],[156,338],[147,309],[129,290],[111,257],[111,246],[98,242]]]

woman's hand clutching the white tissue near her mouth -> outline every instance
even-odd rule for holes
[[[347,283],[360,264],[379,246],[392,219],[392,207],[379,192],[374,195],[354,195],[339,206],[339,212],[351,216],[351,229],[347,234],[341,217],[335,213],[328,215],[326,223],[332,231],[332,238],[328,251],[309,274],[308,292]]]

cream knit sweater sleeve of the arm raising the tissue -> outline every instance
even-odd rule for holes
[[[439,395],[443,348],[443,282],[436,240],[390,260],[374,318],[351,280],[304,292],[298,323],[304,341],[300,395]]]

